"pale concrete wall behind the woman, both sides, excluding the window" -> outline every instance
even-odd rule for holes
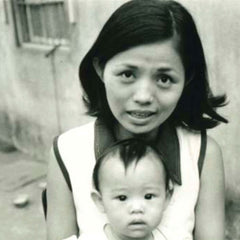
[[[240,2],[238,0],[179,0],[194,16],[204,45],[214,93],[227,93],[220,110],[230,121],[209,131],[222,146],[227,194],[240,194]],[[0,137],[42,158],[52,137],[86,122],[77,69],[110,13],[124,0],[72,0],[75,24],[70,25],[70,48],[16,47],[9,1],[6,22],[0,1]],[[3,13],[3,14],[2,14]],[[4,34],[2,34],[4,33]],[[54,73],[55,68],[55,73]]]

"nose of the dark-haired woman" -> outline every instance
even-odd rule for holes
[[[134,102],[141,105],[149,105],[154,99],[154,86],[146,79],[139,81],[135,88],[135,93],[133,95]]]

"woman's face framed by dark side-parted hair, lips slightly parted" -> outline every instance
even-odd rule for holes
[[[139,45],[112,57],[102,78],[119,133],[155,134],[174,111],[184,76],[174,39]]]

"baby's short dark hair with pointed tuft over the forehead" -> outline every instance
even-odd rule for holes
[[[137,138],[131,138],[127,140],[122,140],[114,143],[110,148],[107,149],[98,159],[93,170],[93,185],[97,191],[100,191],[99,184],[99,170],[102,163],[112,156],[119,156],[119,159],[124,164],[125,170],[131,163],[137,165],[137,163],[148,153],[153,153],[162,162],[165,170],[165,182],[166,189],[168,188],[169,174],[166,169],[166,165],[163,161],[161,153],[150,143]]]

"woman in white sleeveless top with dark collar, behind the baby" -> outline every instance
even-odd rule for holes
[[[174,1],[122,5],[79,73],[89,114],[97,120],[55,139],[48,172],[48,239],[81,235],[104,224],[90,200],[92,169],[99,154],[129,137],[154,143],[166,159],[174,182],[159,226],[166,239],[224,239],[222,155],[205,130],[227,122],[214,110],[225,97],[210,91],[203,48],[188,11]]]

